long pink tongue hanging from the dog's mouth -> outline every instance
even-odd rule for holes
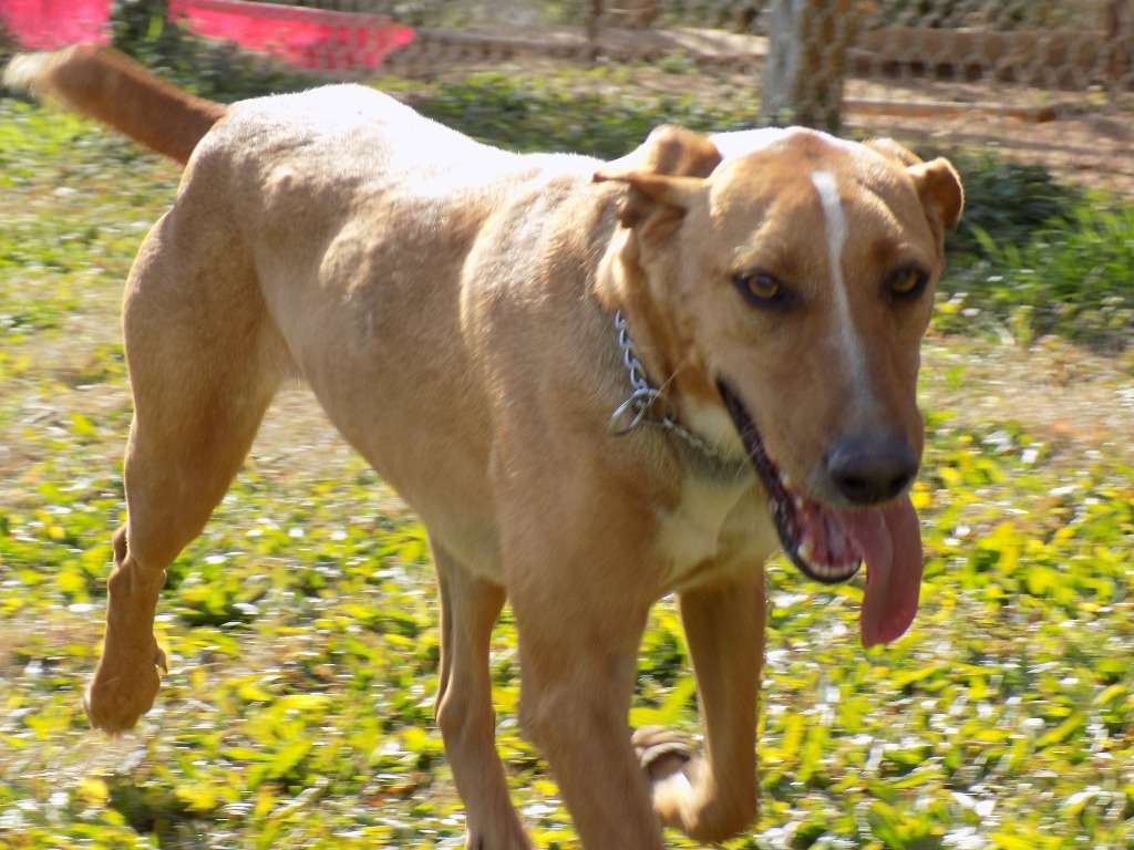
[[[863,646],[888,644],[902,637],[921,594],[921,525],[909,496],[862,511],[840,511],[838,518],[866,562],[866,595],[858,620]]]

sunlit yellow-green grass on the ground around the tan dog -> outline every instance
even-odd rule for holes
[[[615,95],[584,83],[568,96],[472,78],[426,108],[517,147],[604,155],[652,116],[697,122],[675,96],[620,96],[596,118]],[[501,104],[509,119],[493,120]],[[763,813],[734,850],[1134,848],[1134,222],[1046,175],[972,162],[976,221],[1038,180],[1051,207],[1016,203],[957,240],[925,350],[922,611],[863,652],[860,587],[772,566]],[[124,518],[117,301],[176,178],[68,116],[0,101],[0,848],[456,847],[422,530],[303,396],[277,406],[170,571],[158,706],[116,741],[86,726]],[[516,726],[507,617],[492,671],[514,800],[541,847],[577,847]],[[696,730],[666,601],[632,721]]]

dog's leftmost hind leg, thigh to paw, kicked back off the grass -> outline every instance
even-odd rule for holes
[[[257,308],[247,297],[247,275],[210,286],[200,273],[210,271],[206,261],[194,267],[170,249],[166,228],[143,247],[124,307],[134,392],[127,522],[115,535],[104,647],[86,698],[92,725],[109,732],[128,729],[153,704],[164,665],[153,618],[166,569],[244,460],[286,356],[262,301]],[[232,270],[213,263],[211,271]]]

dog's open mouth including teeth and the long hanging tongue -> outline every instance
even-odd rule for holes
[[[905,634],[921,595],[921,524],[907,492],[885,504],[843,510],[793,491],[764,449],[744,403],[723,382],[717,389],[768,493],[780,544],[803,575],[845,581],[866,564],[860,630],[863,646],[888,644]]]

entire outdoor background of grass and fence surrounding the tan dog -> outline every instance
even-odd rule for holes
[[[728,850],[1134,849],[1134,0],[0,0],[0,63],[103,42],[221,101],[361,80],[519,151],[657,125],[896,137],[962,173],[923,347],[907,638],[768,568],[758,823]],[[91,732],[132,403],[122,281],[180,169],[0,92],[0,850],[459,848],[424,532],[282,392],[169,570],[138,730]],[[671,601],[631,724],[699,729]],[[517,722],[536,847],[575,850]],[[674,835],[670,845],[695,844]]]

